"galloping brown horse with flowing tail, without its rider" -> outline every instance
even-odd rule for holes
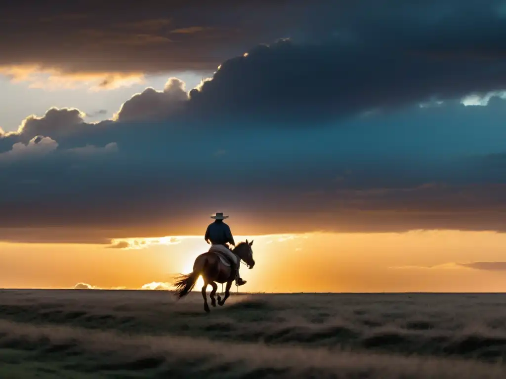
[[[246,242],[241,242],[233,250],[234,254],[239,257],[239,262],[237,262],[237,264],[240,264],[242,260],[246,263],[249,269],[255,266],[251,245],[253,245],[253,241],[248,242],[248,240],[246,240]],[[216,282],[227,283],[225,288],[225,297],[223,300],[220,295],[218,295],[218,304],[220,306],[225,304],[225,300],[227,300],[230,296],[230,287],[232,287],[232,282],[235,280],[235,270],[233,270],[230,266],[225,266],[220,260],[220,257],[213,252],[200,254],[197,258],[195,258],[195,262],[193,263],[193,272],[186,275],[182,274],[177,278],[175,283],[176,296],[181,299],[183,296],[188,295],[188,293],[193,290],[193,287],[195,287],[195,283],[200,275],[202,275],[202,279],[204,280],[204,286],[202,287],[204,311],[210,311],[209,306],[207,305],[207,296],[205,294],[205,290],[209,284],[213,287],[213,291],[210,293],[211,305],[216,307],[215,294],[216,290],[218,290]]]

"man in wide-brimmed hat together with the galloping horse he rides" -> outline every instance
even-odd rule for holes
[[[249,269],[255,266],[253,259],[253,251],[251,246],[253,241],[241,242],[235,246],[235,241],[232,236],[230,227],[223,221],[228,216],[223,213],[216,213],[211,216],[215,221],[207,226],[204,234],[204,240],[210,246],[206,253],[200,254],[195,258],[193,263],[193,271],[189,274],[183,274],[177,278],[175,283],[176,296],[182,298],[188,295],[189,292],[195,287],[195,283],[199,276],[202,276],[204,285],[202,287],[202,297],[204,299],[204,310],[209,312],[209,305],[207,304],[207,295],[205,290],[208,285],[213,287],[209,294],[211,298],[211,305],[216,307],[216,291],[218,290],[218,283],[227,283],[225,287],[225,297],[222,298],[218,295],[218,304],[220,306],[225,304],[225,301],[230,296],[230,288],[232,282],[235,280],[236,286],[242,286],[246,283],[239,275],[239,265],[241,260],[246,263]],[[229,245],[235,246],[232,250]]]

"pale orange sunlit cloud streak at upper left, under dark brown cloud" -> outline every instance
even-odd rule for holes
[[[144,74],[138,72],[82,72],[67,73],[57,68],[38,65],[0,66],[0,74],[12,83],[29,83],[29,88],[46,90],[88,88],[91,91],[109,90],[142,84]]]

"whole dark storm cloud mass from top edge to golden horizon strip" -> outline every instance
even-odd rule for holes
[[[60,28],[69,15],[75,33],[88,26],[88,62],[66,57],[72,48],[32,50],[30,58],[13,45],[3,62],[36,59],[68,72],[184,67],[209,70],[209,79],[194,89],[177,78],[146,88],[125,99],[113,120],[90,123],[78,109],[53,108],[2,134],[0,239],[2,230],[16,241],[26,230],[30,242],[58,240],[59,230],[64,242],[97,243],[200,234],[217,211],[233,214],[234,232],[246,235],[504,231],[506,13],[499,2],[413,0],[388,12],[380,6],[391,2],[356,3],[301,1],[286,10],[285,2],[220,2],[206,19],[186,5],[166,18],[150,18],[151,11],[140,18],[132,7],[128,20],[107,25],[62,5],[53,15]],[[153,5],[153,17],[154,10],[161,12]],[[249,22],[229,18],[246,11]],[[30,12],[26,20],[35,17]],[[51,16],[41,12],[38,22]],[[252,25],[279,19],[262,31]],[[115,28],[142,32],[120,43],[129,34]],[[30,33],[15,38],[29,48]],[[55,35],[49,49],[72,33]],[[486,106],[460,102],[491,92],[497,97]],[[28,232],[42,227],[47,234]]]

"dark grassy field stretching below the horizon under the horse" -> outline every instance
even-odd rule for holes
[[[504,378],[506,295],[0,291],[2,378]]]

